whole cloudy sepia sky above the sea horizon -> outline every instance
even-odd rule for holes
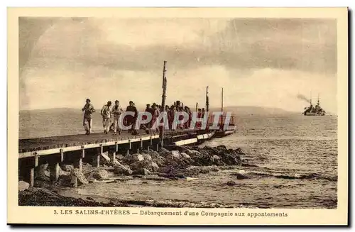
[[[195,108],[337,113],[337,21],[307,18],[19,18],[20,109],[95,108],[118,99]]]

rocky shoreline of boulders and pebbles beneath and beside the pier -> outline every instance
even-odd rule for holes
[[[141,150],[140,154],[116,155],[107,153],[101,156],[102,167],[93,167],[86,163],[82,171],[72,165],[60,166],[60,178],[51,182],[48,165],[42,165],[35,177],[35,185],[23,181],[18,183],[18,204],[20,206],[159,206],[159,207],[203,207],[203,208],[233,208],[219,204],[196,203],[190,201],[134,201],[122,199],[93,199],[87,197],[64,197],[58,194],[62,187],[81,187],[91,182],[121,182],[134,178],[156,181],[170,181],[177,179],[194,179],[200,174],[218,172],[231,169],[231,166],[251,166],[245,158],[241,148],[227,149],[224,145],[217,147],[182,146]],[[109,177],[113,172],[114,177]],[[112,173],[111,173],[112,174]],[[247,176],[238,174],[236,179],[246,179]],[[227,182],[229,186],[234,183]]]

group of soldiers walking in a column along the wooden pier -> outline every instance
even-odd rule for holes
[[[94,106],[92,106],[90,99],[86,100],[86,104],[82,108],[82,111],[84,111],[84,119],[83,119],[83,126],[86,131],[86,135],[89,135],[92,133],[92,114],[95,112]],[[163,111],[163,108],[158,105],[158,104],[147,104],[146,105],[146,112],[150,113],[152,118],[151,121],[148,123],[142,124],[141,128],[145,129],[147,133],[149,133],[149,129],[153,127],[155,122],[158,120],[160,112]],[[169,129],[174,130],[175,128],[178,129],[183,129],[183,128],[190,128],[191,126],[191,121],[192,121],[192,111],[188,106],[183,106],[183,104],[180,104],[180,101],[175,101],[174,104],[171,106],[165,106],[165,111],[167,112],[168,115],[168,124],[169,124]],[[185,123],[177,123],[176,127],[173,126],[174,121],[180,120],[182,121],[183,116],[182,114],[179,114],[179,118],[175,118],[175,113],[176,112],[182,112],[185,111],[185,115],[188,115],[188,120]],[[104,128],[104,133],[108,134],[109,131],[113,131],[114,135],[117,133],[121,134],[121,128],[119,126],[119,119],[121,114],[123,113],[123,109],[120,106],[120,103],[118,100],[114,101],[114,106],[111,107],[111,101],[107,101],[107,104],[104,104],[101,109],[101,116],[102,116],[102,126]],[[131,126],[131,129],[129,129],[129,133],[132,133],[133,135],[138,134],[135,124],[136,120],[138,118],[138,111],[136,109],[135,104],[133,101],[129,101],[129,106],[126,107],[126,112],[133,112],[133,114],[127,114],[124,116],[124,126]],[[204,109],[198,109],[197,111],[197,117],[198,118],[203,118],[204,117]],[[147,119],[146,115],[143,115],[143,120]],[[111,121],[113,120],[113,121]],[[161,118],[161,121],[163,122],[163,118]],[[201,126],[200,122],[197,122],[195,126]],[[156,126],[155,130],[158,132],[159,128],[161,126]]]

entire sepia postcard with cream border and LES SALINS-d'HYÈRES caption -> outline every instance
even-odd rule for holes
[[[8,19],[8,223],[348,224],[348,9]]]

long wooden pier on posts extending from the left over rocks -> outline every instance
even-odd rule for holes
[[[207,130],[175,130],[165,131],[164,145],[188,145],[202,143],[213,138],[215,131]],[[46,138],[29,138],[18,140],[18,168],[19,175],[26,176],[26,180],[33,187],[35,170],[48,163],[50,178],[58,180],[60,165],[73,164],[82,170],[83,160],[92,162],[94,166],[100,166],[100,158],[109,154],[112,164],[117,153],[139,153],[140,150],[159,150],[161,139],[158,133],[138,131],[138,135],[132,136],[128,131],[122,131],[121,135],[113,136],[105,133],[92,133],[87,135],[54,136]],[[89,161],[88,161],[89,160]]]

